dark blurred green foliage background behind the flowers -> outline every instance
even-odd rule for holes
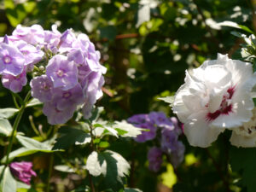
[[[102,65],[108,67],[104,85],[107,91],[101,101],[97,102],[98,106],[105,108],[104,119],[127,119],[132,114],[149,113],[153,110],[163,111],[172,116],[171,108],[157,98],[175,94],[183,84],[186,69],[199,67],[207,59],[215,59],[217,53],[229,54],[232,57],[239,49],[241,39],[230,34],[234,28],[223,27],[216,30],[212,28],[214,26],[207,25],[207,20],[232,20],[253,29],[253,1],[151,2],[158,3],[150,9],[150,20],[137,27],[137,12],[142,5],[136,0],[1,0],[0,36],[11,34],[18,24],[39,24],[44,29],[50,29],[52,24],[57,23],[61,32],[67,28],[73,28],[75,32],[84,32],[96,44],[96,49],[100,50]],[[24,89],[20,96],[24,96],[28,89]],[[1,87],[0,96],[1,108],[14,107],[9,91]],[[26,110],[18,131],[26,132],[27,136],[34,136],[28,120],[29,114],[33,115],[35,125],[41,124],[44,132],[49,131],[50,127],[40,108]],[[241,172],[245,166],[239,165],[244,156],[250,156],[249,152],[242,152],[245,153],[242,156],[238,155],[241,149],[232,148],[230,152],[229,137],[230,133],[224,132],[218,138],[218,142],[213,143],[210,148],[189,147],[186,138],[181,137],[186,144],[185,153],[194,154],[197,160],[189,166],[183,163],[175,170],[178,181],[172,190],[247,191],[249,186],[248,191],[255,191],[256,187],[252,184],[255,183],[256,171]],[[3,157],[6,142],[7,138],[0,137],[0,159]],[[147,151],[150,143],[138,144],[127,139],[118,142],[109,139],[108,143],[113,151],[119,152],[131,162],[127,186],[145,192],[157,191],[156,186],[160,183],[160,177],[149,172],[147,168]],[[249,160],[243,161],[249,166],[248,169],[251,163],[256,162],[255,150],[252,149],[252,153],[253,160],[248,157]],[[70,147],[65,154],[55,155],[54,162],[58,165],[67,160],[76,166],[76,157],[86,155],[86,147]],[[40,172],[38,180],[35,181],[37,189],[40,189],[38,185],[44,185],[47,180],[49,158],[50,154],[27,157],[27,160],[33,160],[34,164],[37,164],[35,169]],[[235,172],[231,172],[228,163],[230,159],[231,168]],[[163,166],[160,172],[165,171],[166,168]],[[61,190],[58,188],[58,185],[61,185],[58,178],[62,181],[66,178],[72,184],[63,184],[65,187]],[[247,183],[242,183],[241,178],[247,179]],[[52,191],[70,191],[86,184],[80,177],[75,180],[68,174],[56,171],[53,172],[52,181]]]

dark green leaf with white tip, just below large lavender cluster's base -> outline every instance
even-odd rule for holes
[[[91,140],[89,133],[79,129],[61,127],[58,132],[61,134],[61,137],[56,139],[53,149],[65,149],[73,144],[87,144],[90,143]]]

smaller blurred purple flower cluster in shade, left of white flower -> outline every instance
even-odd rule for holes
[[[183,143],[178,141],[178,137],[183,131],[175,117],[167,118],[165,113],[151,112],[133,115],[127,121],[137,127],[148,129],[135,138],[138,143],[154,139],[160,140],[160,147],[154,146],[148,151],[149,170],[153,172],[160,170],[163,154],[170,157],[174,167],[183,161],[185,148]],[[158,132],[160,132],[160,136],[157,134]]]

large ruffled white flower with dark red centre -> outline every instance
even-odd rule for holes
[[[184,124],[184,134],[193,146],[206,148],[225,128],[241,126],[254,108],[250,92],[256,74],[250,63],[218,59],[186,72],[185,84],[177,90],[173,112]]]

